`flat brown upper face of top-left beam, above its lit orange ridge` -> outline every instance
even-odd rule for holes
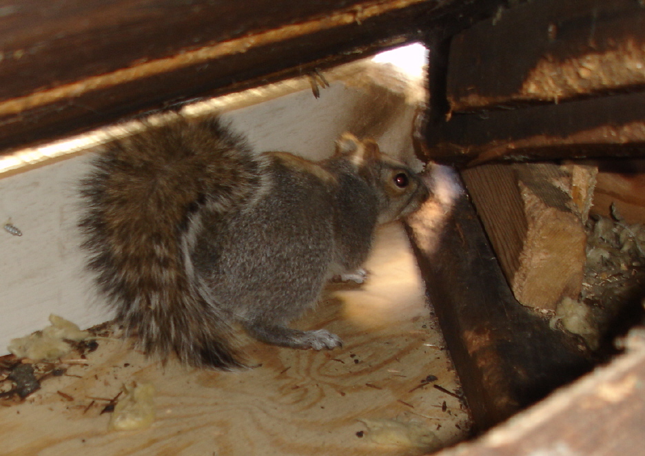
[[[360,0],[287,0],[276,14],[270,0],[247,1],[245,8],[234,1],[21,1],[5,6],[0,17],[0,99],[320,19],[330,10],[358,17],[363,6]]]

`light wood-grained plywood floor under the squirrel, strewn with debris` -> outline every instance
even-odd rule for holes
[[[443,444],[462,439],[468,415],[456,397],[434,386],[458,391],[399,225],[382,229],[367,269],[367,284],[333,285],[320,309],[295,325],[334,331],[342,349],[294,351],[250,341],[247,358],[259,366],[221,373],[172,361],[161,366],[130,341],[99,340],[87,365],[48,378],[21,404],[0,407],[0,454],[422,453],[398,437],[370,433],[362,419],[427,428]],[[436,380],[425,382],[429,375]],[[107,431],[101,399],[132,382],[154,384],[154,424]]]

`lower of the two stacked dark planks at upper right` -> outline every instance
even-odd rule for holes
[[[455,114],[426,136],[424,157],[448,163],[645,156],[645,92]]]

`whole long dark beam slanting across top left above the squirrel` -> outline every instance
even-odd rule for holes
[[[500,1],[4,2],[0,148],[454,33]]]

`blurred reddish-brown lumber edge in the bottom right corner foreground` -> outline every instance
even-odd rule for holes
[[[479,441],[438,456],[620,456],[645,447],[645,340],[628,336],[628,352],[557,391]],[[631,340],[631,342],[630,342]]]

